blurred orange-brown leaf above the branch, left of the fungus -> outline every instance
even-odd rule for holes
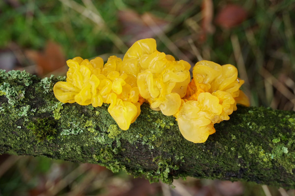
[[[27,50],[26,56],[36,63],[36,73],[39,76],[56,71],[65,65],[61,47],[52,41],[47,42],[44,52]]]

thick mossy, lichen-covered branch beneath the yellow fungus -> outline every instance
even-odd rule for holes
[[[107,104],[62,104],[52,91],[62,79],[0,71],[0,154],[100,164],[166,183],[194,176],[295,188],[292,111],[239,106],[229,121],[214,125],[206,143],[194,144],[181,136],[174,117],[147,104],[127,131]]]

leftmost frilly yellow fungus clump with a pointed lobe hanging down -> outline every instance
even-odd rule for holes
[[[118,126],[127,130],[140,114],[138,87],[126,83],[127,74],[121,70],[122,60],[111,56],[103,65],[99,57],[88,60],[75,57],[67,61],[66,82],[57,82],[54,94],[61,102],[93,107],[110,103],[109,113]]]

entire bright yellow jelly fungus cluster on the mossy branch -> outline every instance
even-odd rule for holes
[[[104,64],[100,57],[75,57],[66,63],[66,82],[53,88],[56,98],[93,107],[108,103],[122,130],[129,129],[141,104],[148,102],[151,109],[175,116],[185,139],[203,143],[215,132],[214,123],[229,120],[237,103],[249,105],[233,65],[200,61],[191,80],[190,64],[159,52],[154,39],[135,42],[122,60],[111,56]]]

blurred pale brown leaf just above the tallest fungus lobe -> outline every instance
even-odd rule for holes
[[[129,44],[140,39],[154,37],[159,31],[164,31],[168,25],[167,21],[150,13],[139,15],[133,10],[119,11],[118,18],[122,26],[121,34],[131,37]]]

